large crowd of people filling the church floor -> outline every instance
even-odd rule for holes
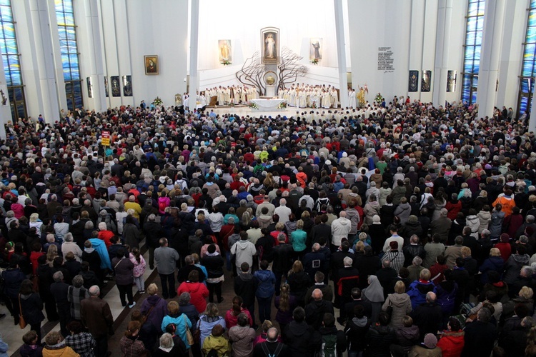
[[[526,124],[396,97],[10,122],[1,298],[31,327],[21,356],[109,356],[111,281],[124,356],[536,356]],[[41,336],[45,316],[59,331]]]

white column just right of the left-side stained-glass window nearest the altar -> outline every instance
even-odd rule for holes
[[[104,53],[102,51],[101,27],[99,25],[99,8],[97,0],[82,0],[74,8],[76,16],[78,47],[81,53],[80,72],[84,74],[84,106],[96,111],[106,110],[104,93]],[[91,78],[93,98],[89,98],[87,79]]]

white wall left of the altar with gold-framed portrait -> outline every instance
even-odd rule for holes
[[[104,75],[132,76],[133,96],[106,98],[108,106],[147,104],[159,96],[164,105],[186,91],[188,1],[100,0]],[[147,76],[144,56],[156,54],[159,74]],[[110,84],[109,84],[110,85]]]

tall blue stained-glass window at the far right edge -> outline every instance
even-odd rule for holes
[[[536,0],[530,1],[527,20],[527,35],[523,43],[523,60],[521,66],[520,88],[517,95],[517,115],[530,111],[532,92],[536,76]]]

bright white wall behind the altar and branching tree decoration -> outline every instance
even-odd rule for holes
[[[352,0],[353,1],[353,0]],[[311,69],[311,75],[300,78],[299,83],[333,83],[338,86],[337,71],[320,69],[337,68],[334,8],[326,0],[274,0],[256,6],[248,0],[200,1],[199,3],[199,88],[239,84],[234,73],[244,61],[261,49],[260,29],[279,28],[280,48],[287,46],[302,56],[302,64],[309,63],[309,38],[323,39],[322,61]],[[219,63],[218,40],[232,41],[232,66]],[[232,75],[231,75],[232,72]],[[314,73],[328,75],[319,81]]]

